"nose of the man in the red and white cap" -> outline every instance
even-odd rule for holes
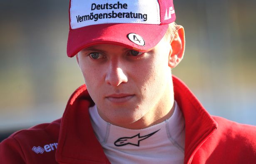
[[[105,82],[114,87],[119,86],[122,83],[128,81],[127,75],[125,75],[124,68],[118,66],[117,64],[111,64],[107,69],[107,75],[105,77]]]

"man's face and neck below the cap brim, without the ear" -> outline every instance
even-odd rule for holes
[[[145,128],[167,115],[173,99],[170,52],[164,38],[144,53],[114,44],[80,51],[77,61],[99,115],[131,129]]]

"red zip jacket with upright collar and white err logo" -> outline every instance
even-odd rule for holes
[[[184,164],[256,163],[255,126],[210,116],[183,82],[176,77],[173,82],[185,118]],[[20,130],[2,141],[0,164],[110,163],[90,123],[87,109],[93,105],[82,85],[70,97],[62,119]]]

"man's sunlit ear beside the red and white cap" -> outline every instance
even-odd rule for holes
[[[172,51],[169,53],[169,67],[174,68],[182,60],[185,51],[185,34],[182,26],[178,27],[170,44]]]

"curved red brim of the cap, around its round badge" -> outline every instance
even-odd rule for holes
[[[168,29],[168,24],[97,24],[79,29],[70,29],[67,40],[67,55],[73,57],[83,48],[99,43],[112,43],[139,51],[147,51],[159,43]],[[144,39],[144,46],[130,41],[128,34],[135,33]]]

